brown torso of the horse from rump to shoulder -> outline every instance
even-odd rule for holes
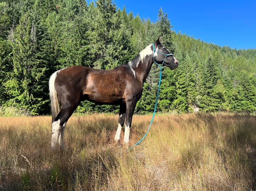
[[[72,66],[58,72],[55,84],[80,100],[102,104],[120,104],[131,97],[140,97],[142,92],[142,85],[125,66],[112,70]]]

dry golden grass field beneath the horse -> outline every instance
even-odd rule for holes
[[[134,115],[130,145],[151,117]],[[50,116],[0,117],[0,190],[256,190],[254,115],[156,115],[128,152],[114,144],[117,124],[73,116],[55,153]]]

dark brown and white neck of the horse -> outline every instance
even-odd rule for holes
[[[138,56],[128,63],[130,72],[141,83],[144,83],[153,65],[153,51],[147,46]]]

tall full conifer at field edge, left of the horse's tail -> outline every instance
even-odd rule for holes
[[[7,105],[15,104],[38,114],[44,110],[45,88],[41,78],[47,66],[37,46],[37,25],[28,13],[22,16],[16,27],[13,43],[13,67],[11,79],[5,83],[10,99]]]

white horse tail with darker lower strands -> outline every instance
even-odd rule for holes
[[[58,97],[58,94],[55,90],[54,82],[56,79],[56,76],[58,74],[58,71],[54,72],[49,80],[49,92],[50,92],[50,99],[51,99],[51,117],[52,121],[56,118],[58,113],[60,112],[61,104]]]

